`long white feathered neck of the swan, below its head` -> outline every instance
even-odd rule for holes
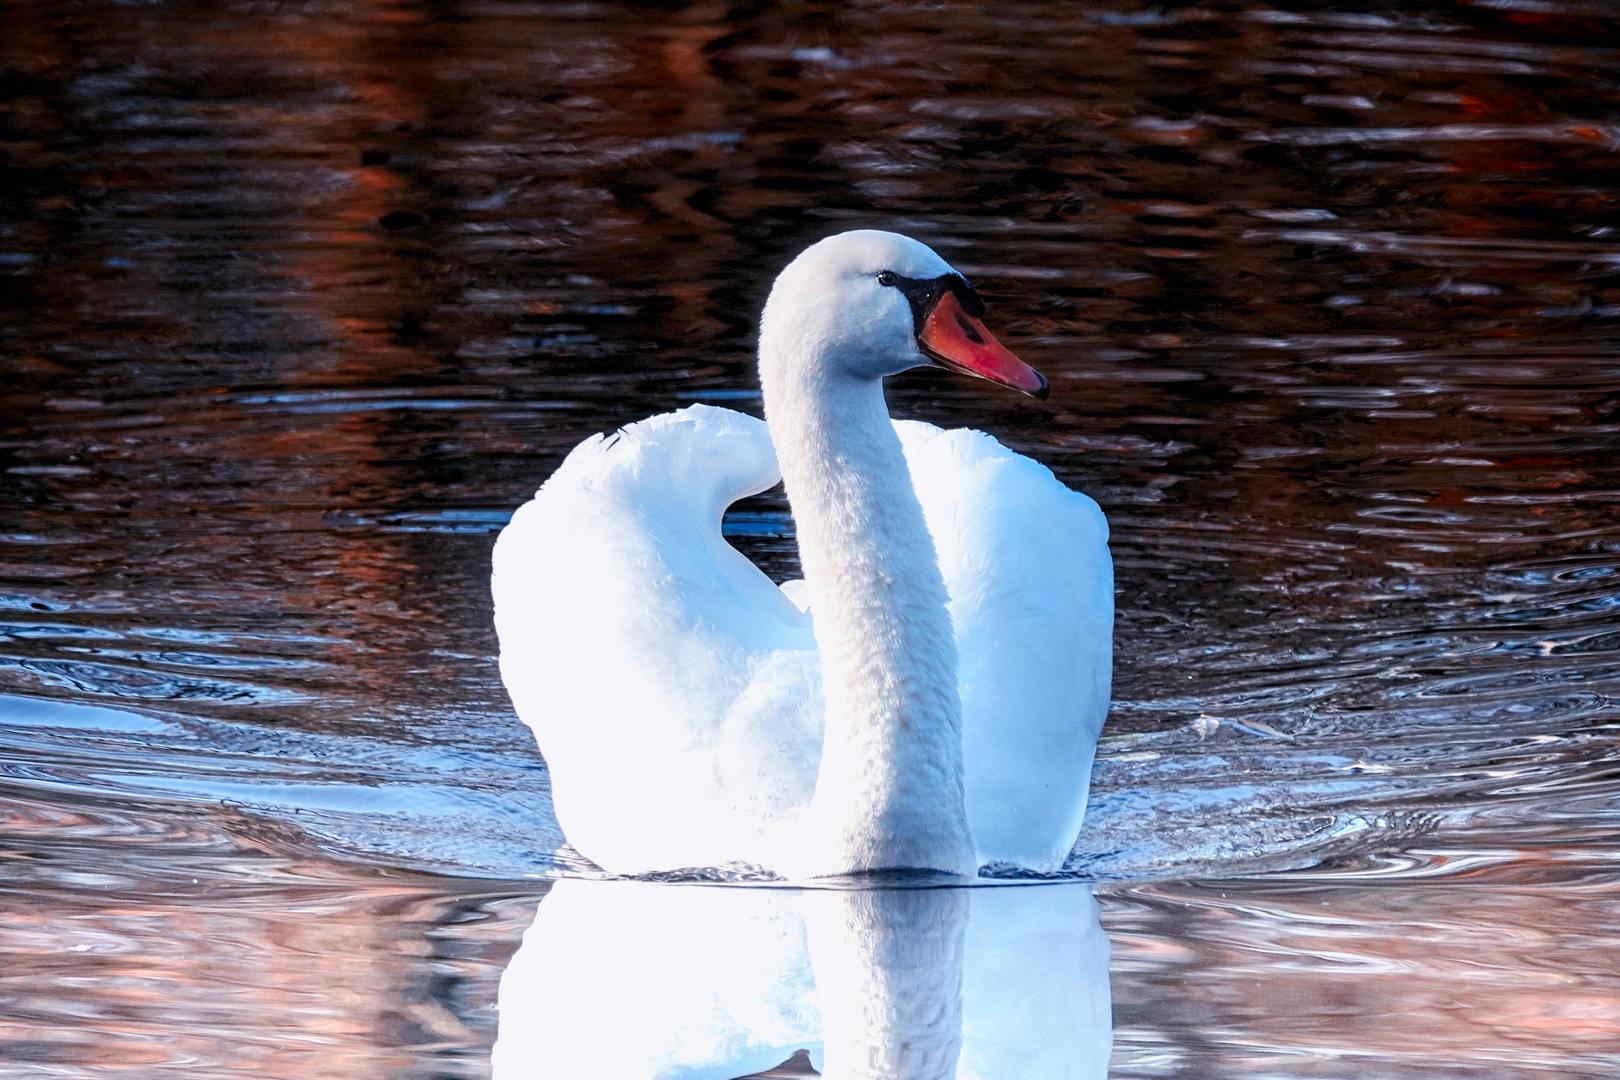
[[[813,873],[972,874],[956,636],[883,384],[794,368],[761,374],[826,691]]]

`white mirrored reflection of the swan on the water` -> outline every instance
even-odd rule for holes
[[[496,1080],[1084,1080],[1113,1046],[1085,884],[562,881],[501,980]]]

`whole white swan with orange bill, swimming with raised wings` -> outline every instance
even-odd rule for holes
[[[1097,504],[977,431],[893,421],[936,364],[1034,397],[932,248],[821,240],[760,322],[766,421],[693,405],[593,436],[501,533],[501,675],[573,848],[609,873],[1056,871],[1108,706]],[[721,536],[778,481],[804,580]]]

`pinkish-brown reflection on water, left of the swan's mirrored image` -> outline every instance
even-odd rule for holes
[[[488,1075],[533,895],[290,858],[230,814],[0,821],[0,1075]]]

